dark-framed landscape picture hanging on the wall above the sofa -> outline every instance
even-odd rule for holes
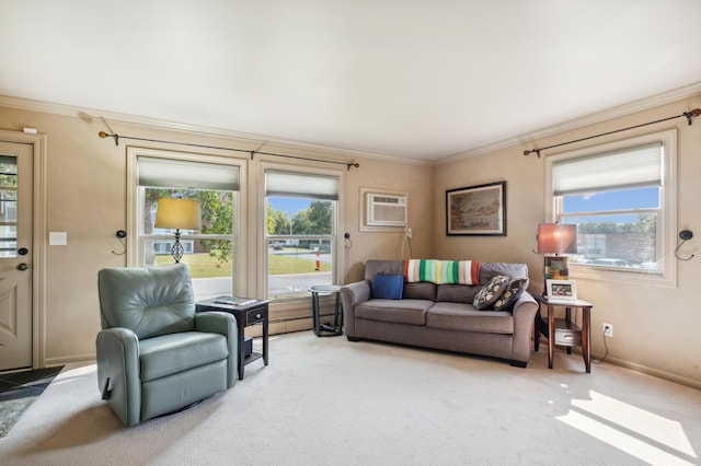
[[[506,236],[506,182],[447,190],[446,234]]]

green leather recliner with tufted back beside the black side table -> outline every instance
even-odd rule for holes
[[[176,411],[237,382],[237,321],[195,313],[184,264],[97,273],[102,397],[127,426]]]

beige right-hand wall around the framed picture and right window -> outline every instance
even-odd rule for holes
[[[678,183],[673,186],[678,196],[676,231],[693,231],[694,238],[685,244],[681,253],[685,257],[690,254],[698,257],[677,261],[676,287],[575,279],[578,295],[594,304],[591,343],[596,356],[601,357],[605,352],[600,334],[601,324],[607,322],[614,328],[614,337],[608,339],[609,360],[701,387],[701,304],[697,296],[701,277],[701,247],[698,243],[701,235],[701,119],[697,118],[693,126],[688,126],[685,118],[678,118],[543,151],[542,159],[536,154],[522,155],[526,149],[680,115],[698,107],[701,107],[701,96],[438,165],[434,199],[436,256],[525,261],[530,268],[530,291],[542,291],[542,256],[531,249],[537,245],[537,225],[544,220],[544,156],[676,128]],[[446,236],[445,190],[498,180],[507,182],[507,236]],[[673,251],[666,251],[666,254],[673,254]]]

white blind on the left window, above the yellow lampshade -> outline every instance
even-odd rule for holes
[[[239,167],[203,162],[138,158],[139,186],[238,191]]]

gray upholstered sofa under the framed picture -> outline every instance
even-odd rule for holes
[[[478,284],[404,282],[402,299],[372,299],[376,275],[402,275],[403,260],[368,260],[365,280],[341,289],[348,340],[388,341],[504,359],[525,368],[538,303],[522,291],[513,307],[478,311],[475,294],[495,276],[528,278],[525,264],[482,263]]]

